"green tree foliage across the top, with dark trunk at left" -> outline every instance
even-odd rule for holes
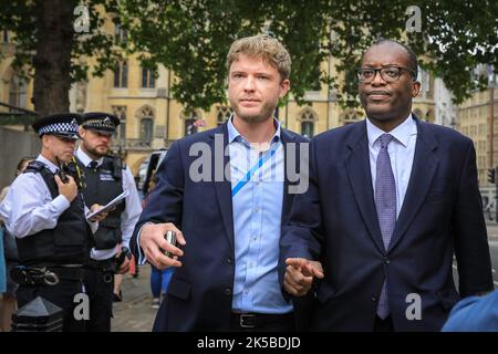
[[[90,31],[76,32],[74,9],[89,9]],[[94,73],[114,67],[120,56],[141,53],[145,67],[163,64],[175,73],[173,95],[187,110],[208,110],[226,100],[225,58],[241,37],[271,32],[292,58],[291,92],[329,85],[344,106],[357,105],[354,69],[380,38],[412,45],[421,64],[442,77],[456,103],[486,86],[478,64],[498,72],[498,3],[491,0],[12,0],[2,6],[0,27],[15,33],[14,67],[31,69],[40,113],[68,111],[71,82],[86,79],[81,58],[93,56]],[[409,23],[419,23],[407,32]],[[415,11],[415,12],[411,12]],[[128,31],[126,48],[103,23]],[[333,58],[335,71],[320,64]],[[336,72],[329,75],[329,72]],[[343,80],[340,80],[340,79]]]

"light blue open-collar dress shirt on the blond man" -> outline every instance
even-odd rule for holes
[[[283,202],[284,153],[280,125],[271,145],[251,146],[228,121],[231,188],[246,178],[260,158],[274,150],[247,184],[232,196],[235,280],[232,311],[289,313],[278,279],[280,226]]]

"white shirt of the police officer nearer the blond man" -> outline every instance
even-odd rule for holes
[[[77,159],[84,165],[89,166],[93,159],[82,150],[81,146],[76,150]],[[97,166],[101,166],[104,162],[104,157],[101,157],[96,160]],[[135,228],[135,223],[138,221],[138,218],[142,212],[142,202],[138,196],[138,190],[135,186],[135,179],[133,178],[132,171],[129,167],[126,166],[126,169],[123,169],[123,190],[128,191],[128,196],[125,198],[125,209],[121,215],[121,230],[123,233],[123,242],[122,246],[129,247],[129,239],[132,238],[133,229]],[[90,251],[90,257],[95,260],[105,260],[114,257],[117,252],[116,248],[112,248],[108,250],[96,250],[92,248]]]

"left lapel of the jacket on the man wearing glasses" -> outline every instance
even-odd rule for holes
[[[356,205],[372,240],[378,250],[384,252],[384,244],[382,242],[382,235],[381,229],[378,228],[377,212],[375,210],[373,197],[365,121],[356,123],[355,132],[353,132],[346,144],[351,154],[346,156],[344,163]]]

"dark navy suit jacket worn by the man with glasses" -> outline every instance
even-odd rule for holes
[[[372,331],[385,275],[395,330],[439,331],[459,299],[454,252],[460,295],[492,289],[473,142],[446,127],[416,124],[412,175],[387,250],[376,217],[365,121],[311,142],[310,188],[294,198],[279,274],[282,280],[289,257],[323,262],[315,330]],[[414,313],[408,306],[417,295],[422,320],[409,321],[406,310]]]

